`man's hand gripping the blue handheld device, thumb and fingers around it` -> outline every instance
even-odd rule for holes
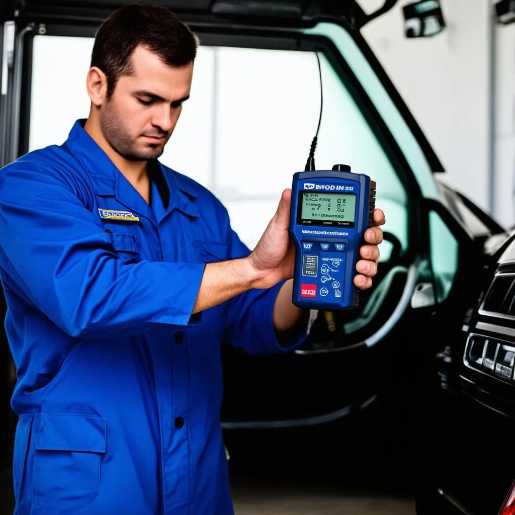
[[[288,234],[290,200],[291,190],[283,191],[276,214],[249,255],[255,277],[253,288],[269,288],[282,279],[291,279],[294,276],[295,247]],[[378,226],[385,223],[385,215],[380,209],[374,211],[374,223],[375,227],[365,231],[365,241],[368,244],[361,247],[360,255],[363,259],[356,264],[358,274],[354,277],[354,284],[362,289],[372,286],[371,278],[377,273],[377,245],[383,241],[383,231]]]

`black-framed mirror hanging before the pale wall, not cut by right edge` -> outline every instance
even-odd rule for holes
[[[402,10],[406,38],[430,38],[445,28],[439,0],[420,0]]]

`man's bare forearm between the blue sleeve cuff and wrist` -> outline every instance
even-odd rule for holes
[[[193,307],[193,314],[217,306],[253,287],[256,272],[247,258],[208,263]]]

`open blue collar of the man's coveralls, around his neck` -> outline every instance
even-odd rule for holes
[[[75,122],[68,135],[66,146],[88,173],[97,195],[114,196],[128,209],[153,221],[154,216],[150,206],[84,130],[85,122],[85,119],[78,119]],[[165,216],[177,208],[188,216],[197,217],[199,212],[194,200],[198,193],[195,188],[181,179],[179,174],[165,168],[157,159],[149,164],[153,174],[161,174],[164,177],[169,189],[170,197]]]

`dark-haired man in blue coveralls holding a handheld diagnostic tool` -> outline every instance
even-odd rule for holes
[[[305,335],[291,192],[250,252],[211,193],[157,161],[196,50],[164,8],[114,12],[93,48],[88,119],[0,174],[20,515],[232,513],[221,341],[272,353]],[[366,240],[361,288],[381,229]]]

